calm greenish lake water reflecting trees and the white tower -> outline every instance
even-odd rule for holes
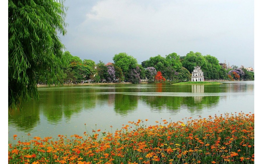
[[[138,119],[148,119],[149,126],[163,119],[177,122],[189,117],[254,113],[254,81],[43,87],[38,91],[39,101],[22,103],[21,110],[9,110],[9,143],[13,143],[15,134],[24,141],[35,136],[91,134],[98,129],[114,133],[128,121]]]

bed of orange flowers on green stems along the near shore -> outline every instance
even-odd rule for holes
[[[115,133],[18,141],[8,163],[254,163],[254,114],[128,123]]]

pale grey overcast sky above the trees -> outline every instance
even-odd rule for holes
[[[66,0],[66,50],[105,64],[126,52],[138,64],[190,51],[254,68],[252,0]]]

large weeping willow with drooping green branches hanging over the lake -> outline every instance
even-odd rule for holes
[[[8,107],[38,98],[39,79],[60,83],[66,9],[63,0],[8,0]]]

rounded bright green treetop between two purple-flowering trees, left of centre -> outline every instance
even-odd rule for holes
[[[125,52],[115,54],[112,60],[114,61],[114,64],[116,66],[121,68],[124,76],[128,73],[130,69],[135,68],[138,64],[137,59],[135,59],[133,56],[126,54]]]

